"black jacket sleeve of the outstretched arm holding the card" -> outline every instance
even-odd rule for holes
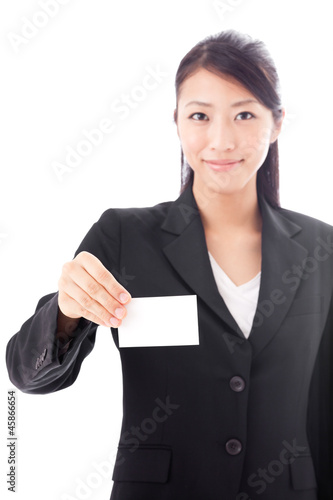
[[[81,251],[90,252],[117,274],[119,235],[117,211],[109,209],[93,224],[75,256]],[[94,347],[96,323],[81,318],[76,330],[70,335],[64,332],[57,340],[57,318],[58,292],[54,292],[39,300],[35,313],[7,344],[8,375],[23,392],[46,394],[70,386]]]

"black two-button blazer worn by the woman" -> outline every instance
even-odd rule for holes
[[[124,391],[112,500],[333,499],[333,227],[258,201],[248,339],[218,292],[191,187],[174,202],[107,210],[76,252],[95,254],[132,297],[197,295],[199,345],[119,348],[111,329]],[[22,391],[69,386],[93,348],[96,324],[82,319],[60,355],[56,321],[54,293],[8,343]],[[165,311],[161,322],[174,321]]]

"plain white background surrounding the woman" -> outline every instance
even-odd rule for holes
[[[213,0],[70,0],[44,20],[42,3],[5,0],[0,7],[0,494],[106,500],[122,402],[110,331],[99,328],[72,387],[44,396],[17,391],[15,494],[6,485],[13,388],[6,344],[38,299],[56,291],[63,263],[104,210],[177,198],[175,73],[195,43],[223,29],[263,40],[280,74],[288,115],[279,139],[281,205],[333,223],[331,2],[225,0],[228,9],[219,13]],[[45,25],[15,50],[10,37],[32,20]],[[165,76],[119,119],[111,104],[136,92],[147,67]],[[64,163],[82,131],[104,118],[115,119],[114,131],[60,182],[53,162]],[[96,472],[102,462],[105,478]]]

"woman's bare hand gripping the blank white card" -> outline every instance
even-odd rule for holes
[[[126,316],[129,292],[89,252],[80,252],[63,265],[58,282],[58,305],[68,318],[86,318],[117,328]]]

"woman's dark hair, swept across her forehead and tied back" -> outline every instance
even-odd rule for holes
[[[200,68],[235,78],[272,111],[275,121],[282,118],[278,74],[263,42],[227,30],[197,43],[179,64],[175,81],[177,103],[182,83]],[[190,165],[184,162],[181,149],[181,192],[193,182],[193,175]],[[270,145],[267,157],[257,172],[257,191],[274,208],[280,206],[277,140]]]

